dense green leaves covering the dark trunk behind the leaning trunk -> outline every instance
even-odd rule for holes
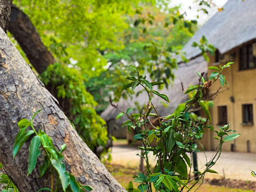
[[[41,74],[41,79],[50,86],[52,94],[58,95],[62,110],[89,148],[95,151],[97,146],[105,146],[108,140],[105,121],[96,113],[97,103],[86,91],[79,71],[54,63]]]

